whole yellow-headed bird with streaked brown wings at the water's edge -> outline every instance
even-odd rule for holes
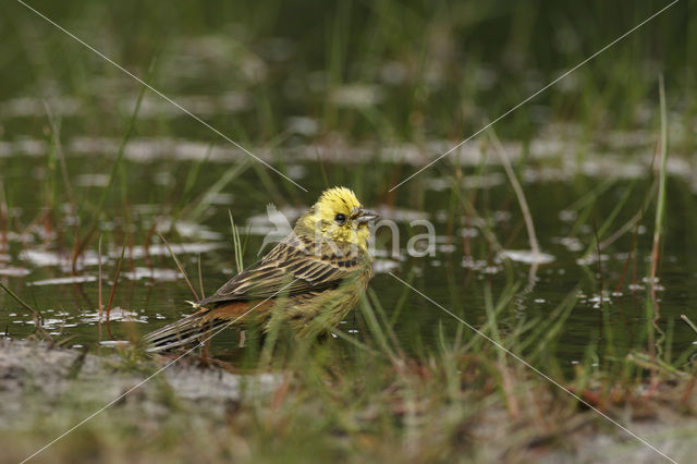
[[[301,338],[326,333],[366,291],[372,274],[369,223],[376,218],[352,190],[323,191],[268,254],[193,303],[195,313],[144,335],[145,351],[200,343],[227,325],[260,326],[266,333],[278,321]]]

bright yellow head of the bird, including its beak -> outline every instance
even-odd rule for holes
[[[368,221],[377,213],[364,209],[356,194],[346,187],[326,190],[295,225],[296,232],[319,233],[323,239],[368,249]]]

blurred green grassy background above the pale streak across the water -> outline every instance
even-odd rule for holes
[[[166,95],[239,98],[205,119],[256,144],[283,144],[297,115],[315,120],[313,138],[464,138],[668,4],[30,2],[136,75],[152,66],[149,82]],[[663,73],[671,108],[694,132],[696,8],[675,3],[497,130],[529,138],[550,120],[591,134],[645,127]],[[136,82],[17,2],[5,3],[0,39],[0,98],[73,96],[95,118],[66,121],[65,135],[123,132],[113,107],[137,94]],[[5,122],[4,137],[33,129]],[[211,137],[183,115],[138,130]]]

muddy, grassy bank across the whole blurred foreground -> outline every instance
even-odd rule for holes
[[[404,437],[370,444],[362,440],[366,440],[367,430],[375,427],[371,420],[360,425],[364,431],[348,436],[339,432],[346,425],[327,417],[322,400],[313,398],[306,387],[295,388],[293,392],[292,380],[289,393],[288,379],[281,375],[234,375],[201,368],[188,359],[156,374],[167,362],[167,358],[130,359],[118,354],[93,355],[29,341],[0,341],[3,460],[19,462],[32,455],[144,380],[145,383],[51,444],[33,462],[274,461],[272,456],[279,455],[268,454],[267,442],[274,443],[284,453],[297,453],[294,460],[318,460],[304,454],[302,447],[296,448],[297,443],[289,444],[294,443],[293,431],[289,431],[284,420],[293,416],[295,419],[291,420],[299,417],[301,423],[303,417],[308,417],[333,424],[315,436],[317,442],[313,445],[321,449],[318,442],[322,441],[340,450],[348,447],[356,452],[344,456],[348,462],[358,456],[379,457],[382,447],[398,447],[394,451],[399,460],[409,455],[416,459],[423,450],[408,451],[404,441],[407,436],[440,434],[428,431],[432,412],[425,410],[413,419],[404,418]],[[562,426],[552,425],[552,420],[545,430],[543,424],[526,424],[522,417],[512,419],[496,398],[496,394],[491,396],[490,405],[468,419],[465,438],[456,439],[461,444],[450,444],[453,450],[465,447],[468,455],[462,456],[463,462],[663,461],[655,450],[592,411],[580,410]],[[552,396],[549,400],[557,401]],[[420,400],[416,401],[418,404]],[[525,415],[527,406],[522,406]],[[659,414],[640,418],[637,407],[614,408],[611,415],[677,462],[689,462],[697,455],[696,418],[671,404]],[[374,404],[362,411],[371,410]],[[310,422],[306,424],[313,427]],[[438,426],[438,420],[433,424]],[[423,445],[424,437],[416,441]],[[370,451],[369,447],[376,447],[378,452]]]

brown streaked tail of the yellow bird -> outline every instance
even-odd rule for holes
[[[206,310],[194,313],[143,337],[146,352],[157,353],[205,341],[206,335],[230,323],[225,319],[206,320]]]

